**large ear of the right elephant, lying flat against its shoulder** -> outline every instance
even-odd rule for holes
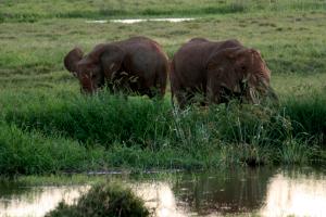
[[[240,92],[241,75],[235,69],[237,53],[241,47],[226,48],[214,54],[208,61],[208,94],[212,98],[218,97],[222,88],[231,92]],[[214,100],[216,101],[216,99]]]

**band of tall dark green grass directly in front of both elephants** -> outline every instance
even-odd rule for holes
[[[84,97],[71,92],[47,94],[10,94],[2,99],[3,118],[26,130],[60,133],[85,144],[155,144],[218,138],[228,142],[277,143],[300,133],[318,136],[325,132],[325,97],[288,98],[279,108],[241,105],[189,107],[175,112],[170,102],[150,101],[99,92]],[[28,99],[27,101],[25,99]],[[13,101],[17,106],[13,107]],[[193,140],[195,139],[195,140]],[[264,141],[266,139],[266,141]],[[160,146],[160,145],[159,145]]]

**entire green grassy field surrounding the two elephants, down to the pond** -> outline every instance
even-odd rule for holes
[[[243,2],[1,1],[0,174],[325,164],[326,2]],[[87,23],[116,17],[197,20]],[[280,106],[235,103],[175,114],[168,92],[163,102],[80,95],[63,56],[75,46],[90,51],[140,34],[170,58],[199,36],[259,49]]]

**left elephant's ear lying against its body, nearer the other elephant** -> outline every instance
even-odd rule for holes
[[[114,73],[122,67],[124,60],[125,52],[118,46],[106,46],[100,55],[104,77],[111,80]]]

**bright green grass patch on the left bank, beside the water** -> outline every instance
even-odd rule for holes
[[[0,124],[0,175],[53,174],[99,168],[102,149],[86,150],[60,136],[25,132],[11,124]],[[96,161],[93,161],[96,159]]]

